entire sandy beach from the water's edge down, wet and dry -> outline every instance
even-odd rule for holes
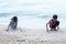
[[[21,32],[20,35],[15,35],[15,33],[16,31],[0,31],[0,44],[66,44],[66,32],[64,30],[51,33]]]

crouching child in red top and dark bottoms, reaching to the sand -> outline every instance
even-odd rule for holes
[[[57,20],[57,15],[54,14],[53,15],[53,19],[51,19],[47,23],[46,23],[46,30],[48,32],[48,28],[47,28],[47,24],[50,24],[50,28],[51,28],[51,31],[57,31],[58,25],[59,25],[59,21]],[[57,28],[57,29],[56,29]]]

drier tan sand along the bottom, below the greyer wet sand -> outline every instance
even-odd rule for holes
[[[15,35],[0,34],[0,44],[66,44],[66,38],[59,41],[29,40]]]

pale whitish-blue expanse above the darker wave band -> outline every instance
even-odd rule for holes
[[[66,0],[0,0],[0,13],[13,11],[65,13]]]

